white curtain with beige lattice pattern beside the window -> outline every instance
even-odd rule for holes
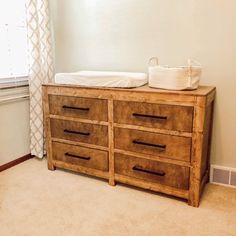
[[[43,158],[42,84],[52,81],[53,57],[48,0],[26,0],[29,43],[31,154]]]

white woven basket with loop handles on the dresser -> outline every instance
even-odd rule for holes
[[[197,89],[202,67],[194,60],[188,60],[188,66],[168,67],[158,65],[158,58],[149,60],[149,87],[170,90]]]

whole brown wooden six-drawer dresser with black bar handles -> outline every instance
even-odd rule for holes
[[[167,91],[43,85],[48,168],[188,200],[209,179],[215,88]]]

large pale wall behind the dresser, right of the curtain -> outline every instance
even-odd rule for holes
[[[212,163],[236,167],[235,0],[50,0],[57,72],[147,71],[158,56],[217,87]]]

